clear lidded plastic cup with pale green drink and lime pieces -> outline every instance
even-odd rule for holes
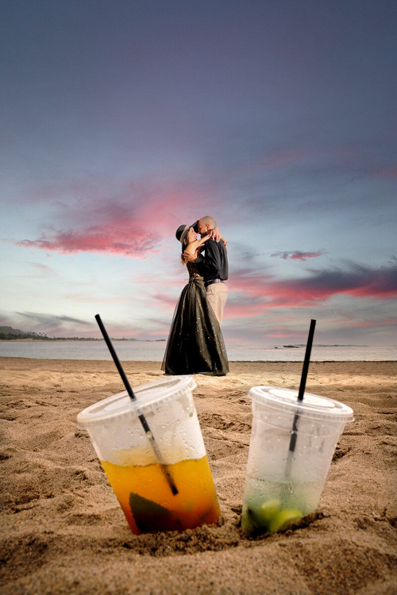
[[[336,444],[353,411],[310,393],[297,402],[298,391],[272,386],[253,387],[248,396],[253,424],[241,527],[248,534],[273,533],[316,511]]]

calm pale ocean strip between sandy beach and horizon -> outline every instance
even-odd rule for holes
[[[166,342],[114,341],[121,361],[155,361],[163,359]],[[229,361],[299,362],[303,361],[305,345],[294,347],[248,347],[228,345]],[[3,341],[0,356],[34,359],[106,359],[111,355],[104,341]],[[311,361],[397,361],[397,346],[313,345]]]

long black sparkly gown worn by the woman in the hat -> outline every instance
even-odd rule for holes
[[[203,277],[193,262],[187,263],[187,270],[189,282],[175,308],[161,369],[170,375],[224,376],[229,371],[228,356]]]

